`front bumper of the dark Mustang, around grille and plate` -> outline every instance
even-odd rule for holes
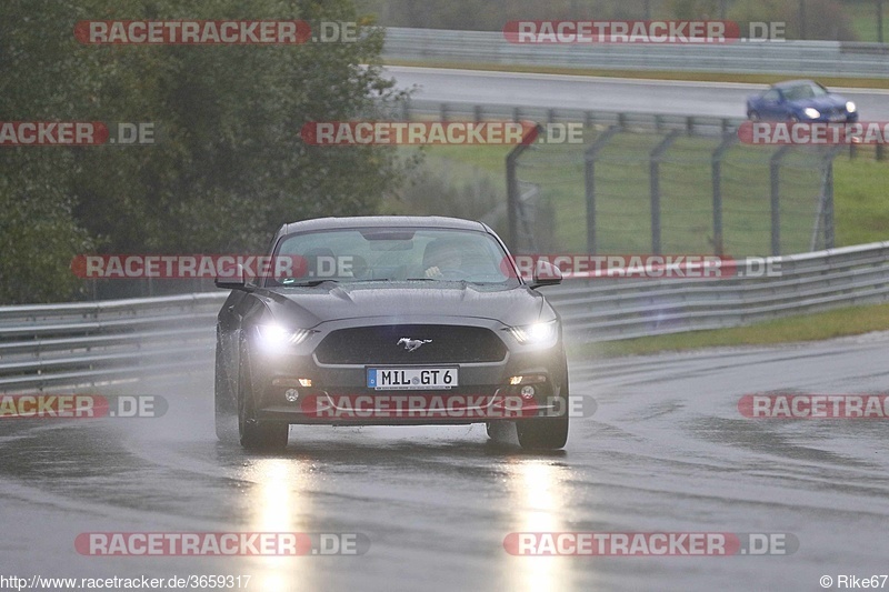
[[[323,425],[453,425],[551,418],[566,412],[559,400],[567,395],[561,335],[553,345],[539,349],[519,344],[500,323],[469,322],[495,331],[506,343],[507,353],[496,362],[441,360],[421,364],[457,367],[459,387],[451,389],[371,389],[367,387],[367,369],[389,364],[373,364],[373,360],[362,364],[320,363],[314,349],[327,333],[341,327],[338,323],[320,328],[296,348],[273,352],[251,348],[257,419]],[[522,377],[521,381],[517,377]]]

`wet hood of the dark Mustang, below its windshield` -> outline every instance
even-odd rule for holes
[[[477,318],[516,325],[539,320],[545,307],[543,297],[527,285],[490,290],[462,282],[440,283],[418,288],[321,284],[276,291],[267,303],[279,320],[307,329],[326,321],[367,317],[393,322],[423,317]]]

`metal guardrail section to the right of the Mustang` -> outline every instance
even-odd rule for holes
[[[889,242],[768,258],[780,275],[576,280],[549,300],[578,341],[723,329],[889,301]]]

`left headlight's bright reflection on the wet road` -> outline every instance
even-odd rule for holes
[[[254,459],[247,478],[257,483],[250,491],[253,509],[249,530],[254,532],[312,532],[308,490],[312,480],[309,463],[300,459]],[[317,530],[317,529],[316,529]],[[256,562],[256,563],[253,563]],[[250,562],[257,590],[279,592],[319,589],[317,558],[263,556]],[[252,588],[252,585],[251,585]]]

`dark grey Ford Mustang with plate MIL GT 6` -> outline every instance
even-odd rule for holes
[[[218,279],[216,422],[247,449],[290,424],[515,422],[523,448],[568,438],[559,315],[486,224],[326,218],[284,224],[267,273]],[[237,274],[236,274],[237,275]],[[237,430],[234,425],[237,424]]]

